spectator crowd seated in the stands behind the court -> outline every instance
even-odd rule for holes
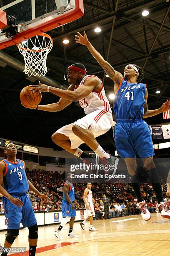
[[[29,170],[26,174],[32,184],[50,200],[42,201],[34,192],[28,191],[34,211],[60,210],[62,204],[65,173],[45,171],[40,169]],[[83,193],[86,184],[74,184],[76,208],[84,208]],[[163,195],[166,197],[166,183],[162,183]],[[157,198],[150,184],[141,186],[143,199],[147,202],[150,212],[157,212]],[[137,215],[140,210],[130,184],[92,184],[92,193],[95,200],[96,219],[116,218],[120,216]],[[170,206],[168,206],[170,208]],[[0,212],[3,212],[2,195],[0,195]]]

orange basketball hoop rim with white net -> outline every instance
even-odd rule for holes
[[[32,75],[45,76],[47,73],[47,54],[51,51],[52,46],[52,38],[45,33],[17,44],[20,53],[24,56],[25,74],[29,77]]]

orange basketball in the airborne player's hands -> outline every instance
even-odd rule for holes
[[[33,93],[32,91],[30,91],[31,88],[31,86],[26,86],[20,92],[20,101],[27,108],[35,107],[40,103],[42,99],[41,92],[39,93],[39,95],[37,95],[37,92]]]

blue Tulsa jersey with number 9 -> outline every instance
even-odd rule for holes
[[[23,194],[29,189],[27,177],[25,174],[25,164],[17,159],[16,163],[7,159],[2,160],[6,169],[3,174],[3,187],[10,195]]]

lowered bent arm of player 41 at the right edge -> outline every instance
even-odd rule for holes
[[[148,90],[145,89],[145,105],[144,105],[144,115],[143,115],[143,118],[148,118],[148,117],[151,117],[151,116],[154,116],[154,115],[158,115],[162,112],[166,112],[170,109],[170,100],[167,100],[166,102],[163,103],[163,105],[158,108],[158,109],[154,109],[154,110],[149,110],[148,109],[148,103],[147,103],[147,100],[148,100]]]

